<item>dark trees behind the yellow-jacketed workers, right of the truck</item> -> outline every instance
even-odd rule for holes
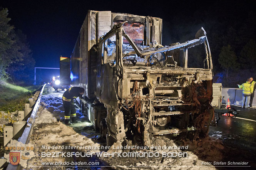
[[[214,58],[219,57],[215,65],[223,69],[216,67],[218,70],[214,71],[219,74],[215,78],[224,87],[237,88],[236,84],[244,83],[247,78],[256,78],[256,13],[248,12],[243,21],[226,29],[219,42],[220,52],[214,53]]]

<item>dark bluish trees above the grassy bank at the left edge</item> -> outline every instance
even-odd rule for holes
[[[10,25],[10,20],[8,9],[0,8],[0,79],[32,83],[35,60],[27,36]]]

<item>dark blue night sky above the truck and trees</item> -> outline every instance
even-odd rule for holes
[[[168,3],[164,3],[168,2]],[[158,3],[158,4],[157,4]],[[59,56],[70,56],[87,10],[131,13],[163,19],[163,45],[186,41],[206,21],[225,18],[236,25],[255,10],[247,1],[29,1],[1,0],[0,6],[8,8],[11,25],[27,35],[36,67],[59,67]],[[202,13],[202,11],[204,11]],[[205,14],[207,12],[207,14]],[[202,16],[206,15],[206,16]],[[229,19],[230,18],[230,19]],[[191,21],[195,24],[191,25]],[[186,28],[186,29],[183,29]],[[189,31],[188,31],[189,30]],[[210,34],[207,32],[207,35]],[[211,46],[211,41],[209,41]]]

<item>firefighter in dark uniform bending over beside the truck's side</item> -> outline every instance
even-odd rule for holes
[[[62,102],[65,109],[65,124],[72,125],[72,123],[81,123],[81,121],[77,120],[74,99],[79,97],[80,100],[84,94],[84,88],[82,87],[70,87],[67,91],[64,92],[62,96]],[[70,117],[72,123],[70,122]]]

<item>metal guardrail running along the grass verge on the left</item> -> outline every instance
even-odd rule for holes
[[[31,113],[31,116],[27,120],[27,124],[26,124],[25,129],[22,133],[22,136],[18,139],[18,141],[22,142],[23,144],[28,144],[28,142],[30,140],[30,136],[32,135],[33,127],[34,127],[34,124],[35,124],[35,117],[37,116],[37,111],[38,111],[38,108],[40,106],[40,101],[41,101],[41,97],[42,97],[42,94],[43,94],[43,91],[44,91],[44,87],[45,87],[45,84],[42,87],[42,89],[40,91],[40,94],[38,96],[38,99],[35,102],[35,104],[33,104],[33,102],[30,101],[30,106],[31,106],[31,104],[34,106],[33,111]],[[6,170],[21,170],[21,169],[23,169],[22,166],[12,165],[11,163],[9,163]]]

